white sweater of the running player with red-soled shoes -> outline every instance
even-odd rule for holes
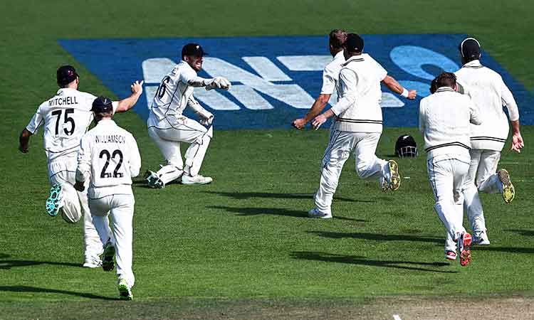
[[[469,157],[471,124],[481,124],[478,107],[467,95],[440,87],[419,104],[419,131],[428,158],[442,154]]]

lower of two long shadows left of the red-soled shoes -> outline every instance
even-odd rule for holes
[[[446,262],[414,262],[414,261],[397,261],[397,260],[372,260],[356,255],[335,255],[326,252],[297,251],[291,252],[293,259],[315,260],[323,262],[349,263],[351,265],[367,265],[371,267],[387,267],[402,270],[414,270],[436,273],[458,273],[457,271],[436,270],[430,267],[449,266]]]

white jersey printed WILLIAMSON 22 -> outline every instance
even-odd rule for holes
[[[135,138],[111,119],[103,119],[83,135],[76,180],[90,180],[89,198],[132,194],[141,156]]]

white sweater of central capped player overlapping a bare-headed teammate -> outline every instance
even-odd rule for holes
[[[367,53],[349,58],[340,70],[337,116],[333,128],[348,132],[382,132],[382,90],[387,71]]]

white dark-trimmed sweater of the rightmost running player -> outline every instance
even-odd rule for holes
[[[501,75],[481,65],[479,60],[466,63],[455,74],[481,112],[482,124],[471,126],[473,149],[501,151],[509,130],[503,105],[508,108],[511,121],[519,119],[518,106],[512,92]]]

